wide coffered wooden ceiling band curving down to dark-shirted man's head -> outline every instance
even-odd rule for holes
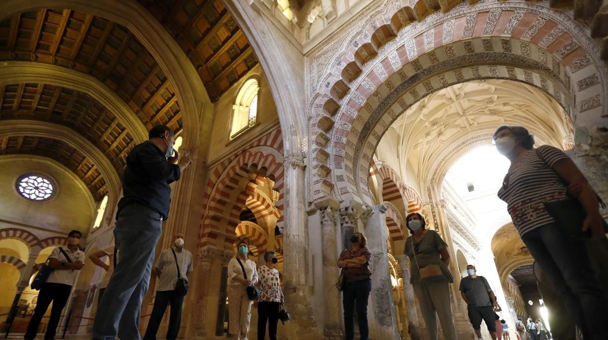
[[[149,129],[182,128],[173,86],[126,27],[73,10],[43,9],[0,22],[0,60],[36,61],[97,78]]]

